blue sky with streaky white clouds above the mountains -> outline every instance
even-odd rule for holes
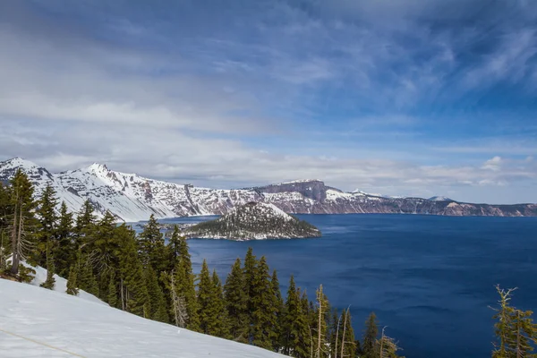
[[[6,0],[0,160],[537,202],[533,0]]]

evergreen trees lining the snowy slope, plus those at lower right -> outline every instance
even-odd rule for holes
[[[357,339],[350,310],[331,307],[323,286],[311,301],[291,276],[284,297],[277,271],[251,248],[222,282],[205,260],[200,274],[193,273],[186,238],[176,226],[166,243],[153,216],[137,235],[132,227],[116,224],[109,211],[98,218],[90,200],[74,216],[64,202],[56,209],[51,186],[38,200],[33,191],[21,171],[8,185],[0,183],[1,277],[30,281],[32,269],[21,265],[25,261],[47,268],[45,288],[55,287],[57,274],[67,278],[68,294],[84,290],[149,320],[296,358],[399,356],[396,341],[379,329],[374,313]],[[511,291],[498,290],[498,343],[492,356],[534,356],[532,312],[511,307]]]

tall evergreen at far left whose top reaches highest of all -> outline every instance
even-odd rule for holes
[[[11,236],[12,267],[11,274],[19,273],[19,264],[33,250],[35,250],[36,219],[34,216],[37,207],[33,199],[34,188],[30,179],[21,169],[17,170],[11,180],[10,208],[12,209],[8,227]]]

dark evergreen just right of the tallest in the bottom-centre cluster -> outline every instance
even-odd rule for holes
[[[252,343],[265,349],[272,349],[277,342],[276,294],[270,283],[270,274],[265,257],[261,257],[255,271],[252,286]]]

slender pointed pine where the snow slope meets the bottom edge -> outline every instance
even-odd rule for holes
[[[285,316],[283,317],[283,354],[296,358],[310,358],[310,327],[303,311],[299,290],[294,277],[289,279]]]

